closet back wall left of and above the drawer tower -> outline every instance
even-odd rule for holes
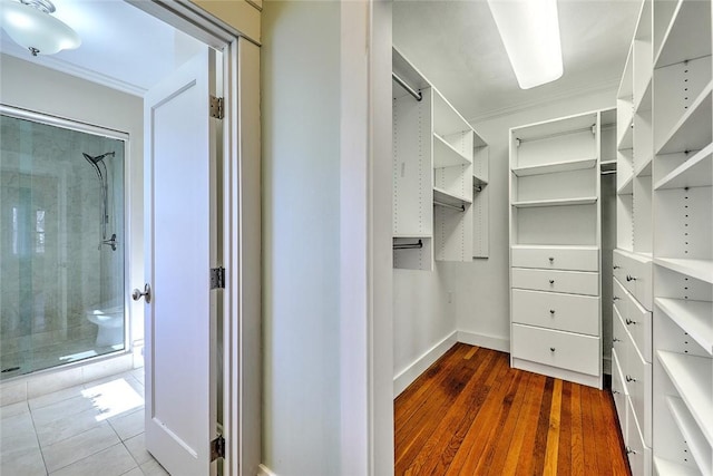
[[[442,266],[446,285],[455,292],[455,319],[461,339],[509,350],[509,128],[615,105],[616,91],[605,90],[472,124],[490,145],[490,256],[470,263],[445,263]]]

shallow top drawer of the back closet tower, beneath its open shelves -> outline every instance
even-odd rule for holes
[[[514,246],[512,268],[599,271],[599,250],[554,246]]]

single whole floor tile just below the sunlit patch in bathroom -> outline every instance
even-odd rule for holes
[[[69,437],[53,445],[42,446],[42,456],[48,472],[56,472],[80,459],[120,443],[108,422]]]

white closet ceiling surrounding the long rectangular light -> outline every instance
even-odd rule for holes
[[[522,90],[486,0],[395,0],[393,43],[469,120],[616,88],[638,0],[558,0],[565,72]]]

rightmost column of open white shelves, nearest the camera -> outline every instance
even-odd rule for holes
[[[713,474],[711,2],[654,1],[654,468]]]

